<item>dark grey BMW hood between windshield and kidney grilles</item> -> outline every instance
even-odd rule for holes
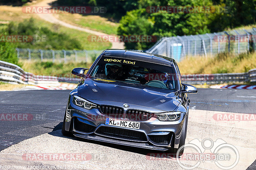
[[[79,93],[88,100],[128,103],[163,111],[173,111],[181,101],[177,92],[170,90],[99,78],[86,78],[79,86]]]

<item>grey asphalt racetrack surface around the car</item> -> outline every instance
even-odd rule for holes
[[[63,137],[60,129],[69,92],[70,90],[0,92],[1,162],[5,165],[13,165],[14,162],[28,164],[28,161],[24,162],[19,155],[63,153],[64,151],[66,153],[86,152],[94,155],[104,153],[107,156],[104,156],[103,161],[96,159],[71,162],[46,161],[44,164],[67,163],[81,165],[81,169],[181,169],[173,158],[153,160],[147,156],[148,153],[157,151]],[[200,141],[204,138],[211,138],[213,141],[218,138],[223,139],[228,144],[236,146],[239,151],[239,162],[234,169],[256,169],[254,161],[256,159],[256,121],[234,123],[216,122],[210,119],[214,114],[224,112],[255,114],[256,91],[198,89],[198,93],[189,94],[189,98],[191,105],[186,143],[193,139]],[[6,116],[7,114],[12,115],[11,120],[5,120],[10,119],[10,116]],[[23,115],[25,117],[22,117]],[[8,161],[9,158],[14,157],[17,157],[14,162]],[[36,165],[38,162],[29,162],[29,164]],[[202,162],[196,169],[218,169],[216,167],[214,163]]]

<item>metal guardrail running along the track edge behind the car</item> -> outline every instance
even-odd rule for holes
[[[60,82],[77,83],[80,78],[65,78],[54,76],[36,76],[25,72],[19,66],[0,61],[0,80],[16,82],[20,84],[54,84]],[[256,69],[245,73],[222,73],[222,74],[191,74],[182,75],[183,83],[188,84],[221,84],[221,83],[243,83],[256,82]]]

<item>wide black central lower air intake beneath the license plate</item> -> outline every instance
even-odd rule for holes
[[[109,136],[109,137],[118,137],[118,138],[122,138],[122,139],[138,140],[138,141],[142,141],[142,142],[147,141],[147,137],[145,136],[144,133],[138,132],[135,130],[101,126],[96,130],[95,133]]]

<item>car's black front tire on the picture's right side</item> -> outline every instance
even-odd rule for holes
[[[182,128],[182,132],[181,132],[181,137],[180,137],[180,144],[179,144],[179,148],[170,148],[169,150],[165,151],[165,153],[173,153],[174,156],[176,156],[178,150],[180,149],[181,146],[183,146],[185,144],[185,139],[186,139],[186,136],[187,136],[187,116],[184,120],[184,123],[183,123],[183,128]],[[180,151],[179,153],[179,156],[181,156],[184,152],[184,148]]]

